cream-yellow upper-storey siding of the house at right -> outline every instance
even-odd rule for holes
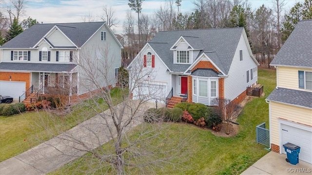
[[[311,91],[305,88],[299,88],[299,76],[298,71],[308,71],[312,72],[312,69],[309,68],[288,68],[288,67],[277,67],[276,69],[276,78],[277,78],[277,87],[278,88],[289,88],[294,90],[304,90]],[[304,82],[304,84],[306,84]]]

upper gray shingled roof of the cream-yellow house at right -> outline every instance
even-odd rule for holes
[[[299,21],[271,66],[312,67],[312,19]]]

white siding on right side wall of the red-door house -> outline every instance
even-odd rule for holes
[[[243,60],[240,61],[240,50],[242,50]],[[257,67],[256,63],[250,56],[243,34],[241,35],[234,58],[228,72],[229,77],[224,78],[224,97],[230,100],[234,100],[241,93],[243,93],[247,87],[252,86],[258,81],[257,72],[253,72],[253,80],[250,79],[247,83],[247,70],[251,70]]]

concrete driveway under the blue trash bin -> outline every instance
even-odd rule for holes
[[[260,158],[241,175],[311,175],[312,164],[299,160],[292,165],[286,162],[284,154],[269,152]]]

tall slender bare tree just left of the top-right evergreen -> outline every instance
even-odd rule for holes
[[[277,43],[278,43],[279,49],[282,47],[281,29],[280,29],[281,19],[280,18],[281,18],[281,12],[283,10],[283,7],[286,4],[287,3],[285,2],[285,0],[274,0],[273,1],[273,8],[274,8],[274,12],[275,12],[275,14],[273,14],[273,17],[276,18]]]

